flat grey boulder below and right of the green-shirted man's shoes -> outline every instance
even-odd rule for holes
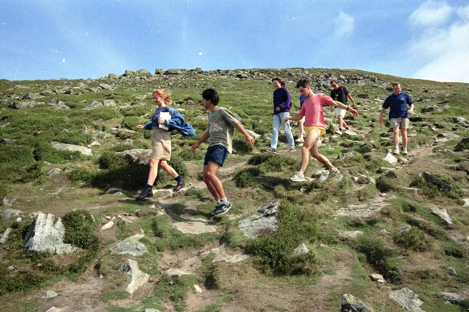
[[[275,199],[257,208],[257,213],[240,220],[238,223],[243,234],[251,238],[257,238],[261,235],[278,232],[279,208],[280,200]]]

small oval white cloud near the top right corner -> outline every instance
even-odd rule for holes
[[[420,5],[409,16],[410,22],[419,26],[439,25],[446,22],[453,8],[446,2],[428,0]]]

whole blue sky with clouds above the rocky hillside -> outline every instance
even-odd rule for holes
[[[355,68],[469,83],[467,1],[0,2],[0,78]]]

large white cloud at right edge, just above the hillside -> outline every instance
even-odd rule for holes
[[[469,12],[469,6],[454,10]],[[414,78],[469,83],[469,18],[460,17],[446,28],[429,26],[411,46],[414,58],[430,60]]]

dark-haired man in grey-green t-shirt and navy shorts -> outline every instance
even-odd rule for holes
[[[226,213],[231,208],[231,203],[225,196],[225,190],[220,179],[217,177],[217,170],[223,166],[228,153],[233,151],[233,132],[236,128],[246,137],[246,145],[254,146],[254,138],[242,127],[241,123],[234,117],[227,108],[218,107],[219,95],[213,89],[206,89],[202,92],[202,99],[205,109],[210,110],[208,115],[208,129],[204,136],[190,147],[191,152],[195,152],[197,147],[210,138],[204,160],[204,182],[213,198],[217,201],[215,210],[210,213],[213,217],[217,214]]]

